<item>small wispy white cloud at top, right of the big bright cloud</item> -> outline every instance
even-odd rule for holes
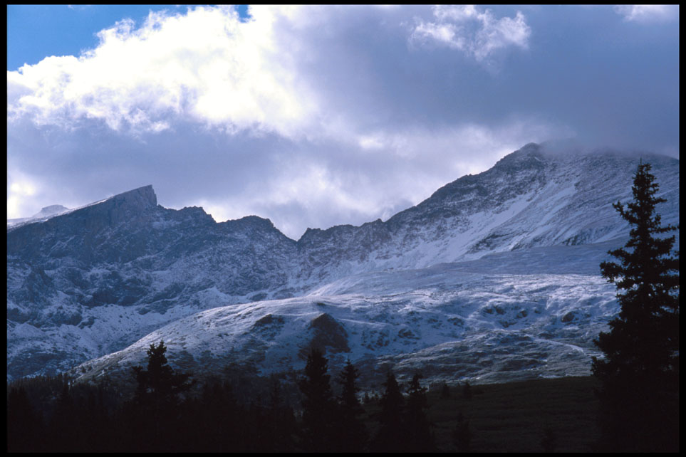
[[[435,22],[419,21],[412,31],[414,43],[435,43],[458,49],[483,62],[496,51],[514,46],[529,46],[531,28],[524,14],[496,19],[490,10],[479,11],[473,5],[437,5]]]

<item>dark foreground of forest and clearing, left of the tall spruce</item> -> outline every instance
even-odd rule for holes
[[[388,372],[360,392],[353,364],[329,374],[312,350],[295,385],[228,369],[199,384],[166,349],[132,369],[134,392],[61,374],[9,383],[8,451],[591,451],[598,438],[593,377],[429,389]]]

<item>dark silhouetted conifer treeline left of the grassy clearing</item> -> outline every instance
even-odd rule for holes
[[[279,378],[256,396],[219,377],[198,385],[175,372],[163,342],[147,350],[147,367],[135,367],[135,392],[125,395],[106,379],[76,384],[68,377],[34,377],[8,384],[8,451],[363,452],[432,451],[425,390],[417,375],[407,399],[392,373],[370,434],[358,399],[358,370],[350,362],[331,379],[327,359],[308,355],[299,399],[289,401]],[[392,381],[391,381],[392,380]],[[263,379],[264,381],[264,379]],[[246,378],[249,382],[249,378]],[[395,385],[393,384],[395,383]],[[334,390],[332,387],[336,387]],[[248,392],[250,390],[248,389]],[[334,392],[339,392],[335,394]],[[370,400],[372,402],[372,400]],[[369,419],[365,417],[365,419]],[[394,439],[388,439],[394,436]]]

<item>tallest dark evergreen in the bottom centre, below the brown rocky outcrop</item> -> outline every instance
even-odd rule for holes
[[[313,347],[307,357],[305,377],[298,383],[303,394],[302,446],[305,451],[336,451],[333,426],[336,404],[327,372],[328,360]]]

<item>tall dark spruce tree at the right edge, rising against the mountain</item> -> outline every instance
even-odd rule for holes
[[[677,230],[662,226],[655,206],[665,199],[639,164],[633,201],[613,204],[632,229],[624,248],[609,251],[620,263],[603,262],[603,276],[615,283],[618,317],[601,332],[593,374],[602,382],[601,448],[610,451],[665,451],[678,447],[679,276],[672,253]]]

